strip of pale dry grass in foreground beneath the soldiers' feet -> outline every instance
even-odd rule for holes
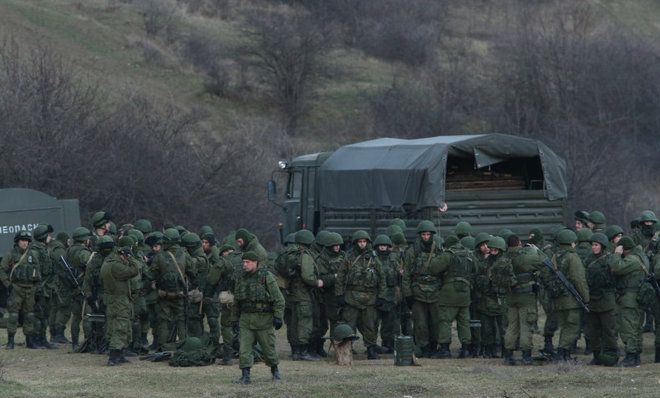
[[[0,336],[4,344],[5,332]],[[645,355],[637,369],[587,366],[591,358],[586,356],[579,356],[577,365],[511,367],[500,359],[420,359],[421,366],[397,367],[392,356],[367,361],[361,346],[347,368],[287,359],[280,331],[283,382],[272,383],[269,369],[257,364],[250,386],[232,383],[240,375],[237,365],[173,368],[131,359],[109,368],[102,355],[21,345],[0,351],[0,397],[655,397],[660,364],[652,363],[652,337],[644,335]],[[541,337],[535,339],[541,346]],[[455,355],[457,347],[452,348]]]

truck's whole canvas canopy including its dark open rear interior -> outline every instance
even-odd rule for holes
[[[320,205],[440,207],[447,192],[542,191],[567,196],[566,162],[540,141],[506,134],[381,138],[346,145],[319,168]]]

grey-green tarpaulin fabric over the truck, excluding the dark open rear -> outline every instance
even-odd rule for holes
[[[546,197],[557,200],[567,195],[566,162],[537,140],[507,134],[380,138],[343,146],[321,165],[321,206],[441,206],[448,156],[473,157],[479,168],[512,158],[539,157]]]

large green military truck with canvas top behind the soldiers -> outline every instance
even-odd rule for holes
[[[281,237],[307,228],[346,239],[357,229],[384,233],[394,218],[406,222],[409,240],[423,219],[443,235],[459,221],[489,233],[551,234],[567,196],[565,161],[540,141],[506,134],[359,142],[280,161],[267,188],[282,210]]]

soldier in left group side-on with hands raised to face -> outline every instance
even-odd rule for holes
[[[106,304],[108,366],[128,362],[124,357],[124,349],[131,340],[133,303],[130,279],[139,273],[139,262],[133,257],[133,245],[133,238],[122,237],[119,239],[119,250],[110,253],[101,266]]]

